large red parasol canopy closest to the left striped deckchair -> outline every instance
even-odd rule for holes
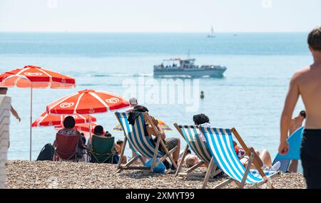
[[[81,90],[47,105],[47,112],[92,114],[120,110],[128,106],[128,100],[119,95],[98,90]]]

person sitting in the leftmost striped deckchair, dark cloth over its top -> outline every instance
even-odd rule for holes
[[[134,123],[134,120],[136,118],[136,113],[146,113],[148,112],[148,109],[143,106],[143,105],[136,105],[133,110],[128,114],[128,122],[130,124]],[[180,139],[178,139],[177,137],[170,137],[170,138],[166,138],[165,132],[163,130],[163,128],[161,127],[161,125],[158,123],[158,120],[156,120],[155,118],[153,118],[153,116],[151,116],[151,119],[153,120],[153,124],[156,125],[158,132],[160,132],[161,138],[167,148],[168,151],[172,150],[174,147],[177,146],[177,149],[175,150],[175,152],[173,152],[173,160],[175,161],[175,163],[178,163],[178,156],[180,155]],[[148,138],[149,140],[151,140],[151,142],[153,143],[154,146],[156,146],[156,142],[157,142],[157,137],[153,138],[153,136],[157,135],[157,133],[153,130],[153,127],[151,126],[151,124],[149,123],[149,120],[146,118],[146,116],[144,115],[144,120],[145,120],[145,130],[148,133]],[[163,149],[161,149],[163,150]],[[169,169],[169,164],[167,161],[164,162],[164,165],[166,167],[166,169]],[[173,165],[172,168],[174,169]]]

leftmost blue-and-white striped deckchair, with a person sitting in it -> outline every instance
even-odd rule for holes
[[[163,162],[167,157],[170,158],[170,162],[172,162],[172,165],[175,167],[175,169],[177,169],[177,165],[173,160],[173,157],[170,156],[171,154],[173,154],[173,152],[175,152],[175,150],[177,149],[177,146],[168,152],[164,142],[163,141],[161,142],[161,136],[157,136],[157,142],[155,147],[151,142],[151,140],[148,139],[148,135],[145,135],[145,131],[143,128],[145,126],[145,120],[143,118],[143,114],[145,114],[146,118],[148,118],[149,123],[151,123],[151,126],[153,127],[153,130],[155,132],[158,132],[157,127],[153,124],[151,116],[148,115],[147,112],[142,113],[141,115],[138,116],[138,118],[136,118],[135,125],[130,125],[128,123],[127,113],[118,113],[118,112],[115,113],[119,124],[121,124],[121,127],[123,127],[123,132],[125,135],[123,140],[123,147],[121,148],[120,157],[123,157],[123,153],[125,151],[127,141],[131,149],[136,152],[136,156],[132,157],[131,160],[129,160],[125,165],[121,164],[121,159],[120,159],[120,161],[118,162],[117,172],[121,172],[122,170],[150,170],[151,172],[153,172],[154,167],[156,167],[161,162]],[[150,167],[131,166],[133,162],[135,162],[136,160],[138,160],[138,158],[141,158],[141,157],[153,158],[153,162],[151,166]],[[158,162],[156,162],[157,157],[159,158]],[[141,161],[143,162],[143,160]]]

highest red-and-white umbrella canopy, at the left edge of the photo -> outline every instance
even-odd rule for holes
[[[0,75],[0,85],[18,88],[73,88],[75,79],[39,66],[8,71]]]

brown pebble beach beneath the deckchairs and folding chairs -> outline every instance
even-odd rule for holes
[[[100,189],[195,189],[202,185],[202,178],[175,177],[141,170],[116,173],[116,165],[87,162],[29,162],[9,160],[7,163],[6,188],[100,188]],[[228,179],[220,175],[208,182],[208,188]],[[305,179],[299,173],[286,173],[272,180],[275,189],[304,189]],[[225,188],[236,188],[235,183]],[[245,187],[246,188],[246,187]],[[262,188],[266,188],[263,184]]]

